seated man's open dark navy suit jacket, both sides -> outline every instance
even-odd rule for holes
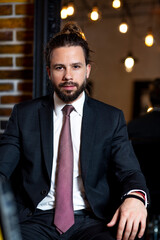
[[[46,96],[16,105],[1,138],[0,173],[11,178],[21,220],[49,192],[53,127],[53,97]],[[123,113],[88,96],[83,109],[80,163],[86,197],[99,218],[109,213],[112,173],[121,186],[116,185],[114,193],[135,188],[147,192]]]

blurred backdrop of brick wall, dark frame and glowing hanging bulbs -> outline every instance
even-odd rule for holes
[[[67,21],[93,50],[92,97],[122,109],[127,122],[150,107],[148,84],[160,77],[160,0],[1,0],[0,133],[15,103],[47,93],[43,49]]]

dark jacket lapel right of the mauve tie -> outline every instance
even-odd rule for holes
[[[90,102],[90,98],[86,96],[83,109],[82,120],[82,132],[81,132],[81,149],[80,149],[80,161],[82,178],[85,181],[87,177],[87,171],[89,169],[89,162],[91,159],[91,153],[94,144],[95,136],[95,113]]]

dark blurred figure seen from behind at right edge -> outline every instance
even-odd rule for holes
[[[150,191],[151,204],[149,219],[154,220],[160,214],[159,188],[159,146],[160,146],[160,78],[149,85],[149,98],[152,108],[144,115],[128,123],[129,138],[145,175]],[[158,218],[158,217],[157,217]]]

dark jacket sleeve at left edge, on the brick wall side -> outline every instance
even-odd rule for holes
[[[13,108],[7,128],[0,139],[0,175],[9,178],[20,159],[20,133],[17,106]]]

